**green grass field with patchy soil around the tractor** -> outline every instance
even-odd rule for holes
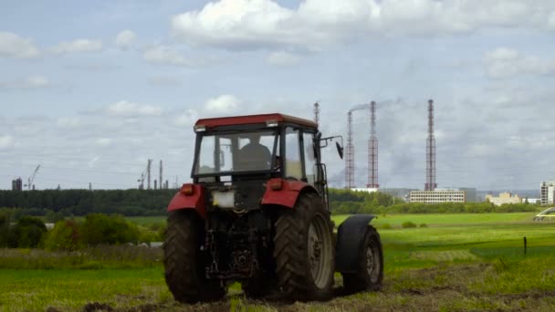
[[[232,286],[221,302],[181,305],[173,301],[164,284],[162,265],[154,265],[135,269],[0,270],[0,310],[553,311],[555,224],[533,223],[532,216],[380,215],[372,224],[380,229],[383,243],[382,291],[341,296],[338,288],[338,296],[325,303],[251,300]],[[340,224],[344,218],[335,216],[334,220]],[[427,227],[402,228],[407,221]],[[165,222],[165,218],[134,222],[153,224]],[[384,224],[390,228],[382,228]],[[524,236],[528,242],[526,255]],[[336,284],[341,283],[337,275]]]

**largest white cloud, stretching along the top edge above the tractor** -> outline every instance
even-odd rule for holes
[[[319,49],[356,36],[441,35],[487,27],[551,24],[555,2],[536,0],[306,0],[289,9],[272,0],[220,0],[173,16],[187,44],[257,49]],[[555,17],[554,17],[555,18]]]

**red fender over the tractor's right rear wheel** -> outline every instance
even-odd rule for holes
[[[261,204],[278,204],[293,208],[295,203],[297,203],[298,194],[305,191],[318,193],[307,182],[290,181],[281,178],[270,179],[266,183],[266,192],[262,196]]]

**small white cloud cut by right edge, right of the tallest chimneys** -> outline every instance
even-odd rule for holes
[[[524,56],[515,49],[499,47],[484,56],[489,78],[511,78],[521,75],[555,74],[555,59]]]

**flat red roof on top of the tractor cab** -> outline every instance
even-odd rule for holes
[[[272,121],[278,123],[293,123],[314,129],[318,128],[318,124],[312,120],[305,120],[279,113],[202,119],[197,120],[194,126],[205,126],[210,129],[221,126],[250,125]]]

